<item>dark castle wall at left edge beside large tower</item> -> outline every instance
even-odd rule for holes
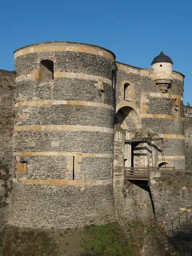
[[[14,86],[15,75],[12,71],[0,70],[0,160],[9,166],[9,174],[13,170],[13,125],[14,125]],[[1,175],[5,172],[0,170]],[[8,205],[0,207],[0,227],[8,221],[10,196],[4,198],[5,181],[0,179],[0,199],[1,203],[5,201]],[[8,186],[9,180],[8,180]]]

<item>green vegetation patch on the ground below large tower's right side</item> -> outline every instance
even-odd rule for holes
[[[86,255],[130,256],[131,245],[117,223],[91,225],[85,227],[84,241],[81,243]]]

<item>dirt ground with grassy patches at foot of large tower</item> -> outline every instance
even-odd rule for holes
[[[139,256],[142,224],[131,221],[75,229],[6,226],[0,232],[0,256]]]

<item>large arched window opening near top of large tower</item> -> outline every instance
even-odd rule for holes
[[[43,60],[40,62],[39,73],[41,74],[41,84],[53,81],[53,61]]]

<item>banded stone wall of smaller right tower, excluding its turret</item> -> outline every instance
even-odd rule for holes
[[[141,71],[141,87],[145,88],[141,93],[142,127],[163,137],[157,164],[166,162],[177,169],[185,169],[183,76],[173,71],[172,85],[167,93],[161,93],[153,81],[156,75],[151,70]]]

